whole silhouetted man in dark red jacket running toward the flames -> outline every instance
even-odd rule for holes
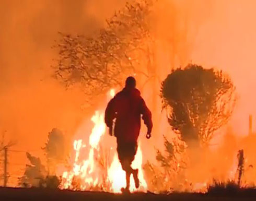
[[[118,157],[126,173],[126,191],[129,191],[131,174],[133,174],[136,188],[139,187],[138,169],[132,169],[131,164],[137,151],[141,115],[147,126],[147,138],[151,137],[153,127],[151,112],[135,87],[135,78],[128,77],[125,87],[110,100],[105,112],[105,122],[110,128],[110,135],[112,135],[115,119],[114,136],[117,137]]]

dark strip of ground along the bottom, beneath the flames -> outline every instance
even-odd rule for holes
[[[39,188],[0,188],[0,200],[256,200],[256,191],[247,194],[231,194],[231,195],[209,195],[209,194],[189,194],[189,193],[174,193],[169,195],[155,195],[152,193],[134,193],[130,195],[117,195],[101,192],[72,192],[61,190],[46,190]]]

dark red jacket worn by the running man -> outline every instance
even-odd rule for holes
[[[152,114],[135,88],[124,88],[108,103],[105,123],[112,128],[115,120],[114,135],[123,141],[137,141],[141,129],[141,115],[148,131],[151,133]]]

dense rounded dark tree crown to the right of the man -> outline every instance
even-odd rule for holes
[[[173,131],[180,133],[189,146],[207,145],[230,118],[234,91],[232,81],[222,71],[189,64],[172,70],[162,82],[162,106],[167,109]]]

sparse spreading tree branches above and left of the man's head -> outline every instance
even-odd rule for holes
[[[123,76],[142,73],[148,77],[136,65],[138,57],[150,54],[145,41],[152,38],[148,23],[152,4],[151,0],[126,3],[95,37],[61,34],[56,78],[67,87],[79,83],[91,100],[92,95],[121,85]]]

